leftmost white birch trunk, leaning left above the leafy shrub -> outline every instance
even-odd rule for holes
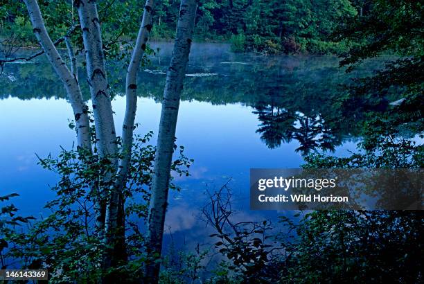
[[[69,102],[73,109],[73,115],[76,123],[78,146],[91,151],[90,140],[90,127],[88,107],[82,100],[80,85],[78,85],[78,78],[73,76],[68,67],[62,60],[62,57],[55,48],[55,45],[49,37],[44,20],[39,10],[36,0],[25,0],[26,7],[28,8],[30,21],[33,26],[33,32],[39,44],[42,46],[44,53],[46,53],[48,61],[51,62],[53,69],[62,80],[65,89],[67,90]]]

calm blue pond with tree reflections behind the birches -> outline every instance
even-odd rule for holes
[[[157,134],[166,69],[172,44],[152,43],[157,55],[139,72],[138,134]],[[273,220],[275,211],[249,211],[250,168],[299,168],[311,151],[337,156],[355,150],[360,139],[355,117],[343,117],[339,85],[380,66],[379,60],[346,74],[337,57],[262,56],[232,53],[227,44],[194,44],[184,82],[177,122],[177,144],[195,160],[190,177],[177,177],[182,188],[171,192],[166,218],[170,232],[184,243],[202,241],[207,233],[199,219],[206,190],[229,179],[240,220]],[[80,82],[85,82],[80,69]],[[109,65],[117,133],[123,121],[125,69]],[[124,79],[125,80],[125,79]],[[46,214],[53,198],[49,184],[58,179],[37,165],[37,157],[70,149],[72,110],[51,66],[36,62],[6,65],[0,76],[0,192],[19,193],[15,205],[24,214]],[[82,91],[89,98],[87,84]],[[89,104],[90,105],[90,104]],[[155,143],[156,136],[152,143]],[[287,215],[287,213],[286,213]]]

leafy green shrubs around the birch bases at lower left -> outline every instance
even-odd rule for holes
[[[143,253],[143,220],[147,216],[152,181],[152,163],[155,148],[148,145],[152,132],[145,136],[136,136],[132,150],[132,164],[123,190],[125,198],[125,239],[123,247],[130,260],[112,267],[107,274],[121,272],[134,280],[141,277],[140,269],[145,261]],[[184,148],[179,149],[179,158],[173,162],[175,175],[188,175],[188,167],[193,162],[184,156]],[[82,149],[64,150],[58,157],[39,159],[39,164],[55,172],[60,178],[51,189],[57,197],[44,207],[48,211],[46,218],[37,220],[28,229],[16,231],[13,226],[18,222],[27,223],[34,218],[15,216],[17,208],[12,205],[1,209],[11,218],[1,219],[1,248],[9,246],[6,258],[20,260],[23,267],[48,269],[51,281],[69,282],[80,279],[91,283],[104,273],[100,269],[105,245],[98,238],[95,225],[94,201],[101,198],[96,188],[111,188],[102,177],[112,170],[111,157],[100,159],[96,151],[90,154]],[[94,182],[95,181],[95,182]],[[94,184],[93,184],[94,182]],[[179,190],[171,184],[171,188]],[[7,200],[15,195],[1,197]],[[7,263],[4,263],[6,266]],[[125,272],[125,273],[124,273]]]

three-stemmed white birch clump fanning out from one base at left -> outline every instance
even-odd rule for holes
[[[78,145],[91,151],[88,107],[85,105],[84,100],[82,100],[81,89],[78,84],[76,57],[73,53],[71,41],[68,36],[64,37],[64,42],[67,45],[69,57],[71,59],[71,71],[69,71],[58,49],[48,36],[37,1],[28,0],[25,1],[25,3],[28,8],[35,36],[39,40],[39,44],[42,46],[44,53],[46,53],[48,60],[51,62],[67,89],[76,121]],[[107,157],[107,159],[110,159],[112,168],[115,169],[114,172],[110,172],[105,177],[102,177],[105,181],[103,184],[107,184],[108,180],[110,181],[110,188],[94,188],[99,191],[99,198],[95,202],[96,229],[99,238],[103,240],[107,246],[113,245],[116,241],[114,233],[118,226],[117,216],[118,204],[120,202],[119,198],[121,196],[120,190],[125,186],[131,157],[132,135],[136,112],[136,75],[141,59],[143,58],[148,35],[152,28],[151,13],[153,3],[154,1],[152,0],[146,1],[143,11],[143,21],[136,40],[131,63],[130,66],[128,66],[126,87],[127,109],[123,124],[123,151],[121,155],[122,159],[118,161],[117,137],[114,127],[112,104],[109,96],[109,86],[107,84],[103,42],[96,1],[84,0],[74,2],[80,17],[82,39],[86,55],[87,81],[90,87],[94,124],[96,127],[96,146],[100,157]],[[120,165],[119,167],[118,164]],[[118,173],[118,175],[116,175],[116,173]],[[118,176],[118,178],[112,180],[114,176]],[[121,201],[121,204],[122,203],[123,201]],[[123,207],[121,211],[123,211]],[[110,256],[105,256],[105,258],[110,259]],[[106,266],[108,266],[108,264],[106,264]]]

